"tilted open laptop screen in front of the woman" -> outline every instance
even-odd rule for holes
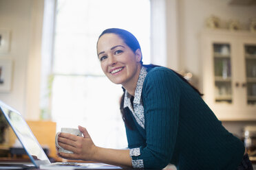
[[[34,137],[34,134],[30,130],[30,127],[28,127],[28,124],[25,122],[23,117],[21,117],[21,114],[17,112],[17,110],[10,108],[10,106],[3,104],[1,101],[0,114],[3,114],[6,117],[8,123],[12,127],[12,130],[16,134],[17,138],[19,138],[21,145],[23,145],[34,165],[39,167],[41,164],[50,164],[50,160],[47,158],[41,145]]]

